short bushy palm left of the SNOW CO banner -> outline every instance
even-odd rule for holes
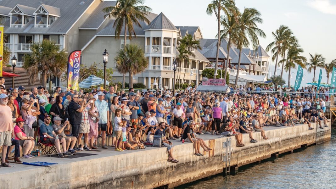
[[[53,41],[43,40],[31,44],[31,53],[26,54],[23,68],[34,84],[35,77],[41,73],[40,83],[47,86],[47,76],[61,77],[67,68],[68,53]]]

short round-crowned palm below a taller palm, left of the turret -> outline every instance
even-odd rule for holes
[[[143,49],[135,44],[119,49],[114,60],[118,72],[125,73],[126,70],[128,71],[130,88],[133,88],[133,76],[142,73],[148,67]]]

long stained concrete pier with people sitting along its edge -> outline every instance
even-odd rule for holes
[[[231,137],[231,167],[240,167],[258,162],[272,155],[289,152],[305,145],[320,144],[330,140],[331,126],[313,130],[307,125],[295,127],[265,127],[268,140],[260,132],[253,133],[257,143],[250,143],[248,134],[243,134],[245,147],[236,147]],[[50,188],[50,189],[110,189],[110,188],[172,188],[223,172],[225,155],[223,142],[228,137],[201,135],[214,149],[194,155],[192,143],[171,140],[178,163],[167,161],[166,148],[148,147],[142,150],[115,152],[112,147],[102,151],[82,151],[95,155],[78,158],[35,157],[22,159],[25,162],[47,161],[58,163],[51,167],[37,167],[11,163],[12,168],[0,169],[0,188]],[[203,150],[201,150],[203,151]]]

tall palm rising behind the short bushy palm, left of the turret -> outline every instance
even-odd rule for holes
[[[113,23],[115,38],[119,38],[122,29],[124,29],[124,49],[126,48],[127,31],[129,39],[132,39],[132,35],[136,37],[133,25],[142,28],[140,21],[144,21],[147,24],[150,23],[146,15],[152,9],[142,4],[142,0],[117,0],[116,6],[103,8],[103,12],[107,13],[104,15],[105,18],[115,19]],[[122,83],[122,88],[125,88],[125,74],[123,74]]]

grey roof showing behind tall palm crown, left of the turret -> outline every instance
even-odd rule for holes
[[[150,21],[154,20],[155,17],[157,17],[157,14],[154,13],[149,13],[146,15],[147,19],[149,19]],[[113,27],[115,20],[109,20],[106,27],[104,29],[102,29],[100,32],[97,33],[97,35],[114,35],[115,34],[115,28]],[[139,26],[133,25],[134,31],[136,35],[145,35],[145,32],[143,31],[143,28],[147,26],[147,24],[143,21],[140,21],[140,25],[142,28],[140,28]],[[123,27],[124,28],[124,27]],[[122,29],[122,31],[124,31],[124,29]],[[120,35],[124,35],[124,33],[122,32]],[[128,31],[127,31],[127,35],[129,35]]]

